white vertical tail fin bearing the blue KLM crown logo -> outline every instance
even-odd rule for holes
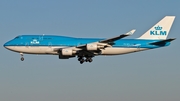
[[[175,16],[165,16],[138,39],[166,39]]]

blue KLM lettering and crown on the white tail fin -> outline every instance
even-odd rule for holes
[[[150,31],[150,35],[166,35],[167,31],[162,30],[163,27],[154,27],[155,30]]]

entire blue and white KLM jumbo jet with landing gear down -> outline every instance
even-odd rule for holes
[[[175,38],[167,39],[175,16],[165,16],[141,37],[123,39],[136,30],[113,38],[75,38],[58,35],[20,35],[6,42],[4,47],[23,54],[58,55],[59,59],[77,57],[78,61],[92,62],[99,55],[122,55],[169,46]]]

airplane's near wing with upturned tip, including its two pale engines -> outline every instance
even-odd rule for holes
[[[54,49],[54,51],[60,52],[63,55],[67,55],[67,56],[71,56],[72,54],[75,54],[75,55],[78,55],[79,57],[83,57],[83,56],[94,57],[95,55],[100,54],[102,49],[105,49],[107,47],[112,47],[114,41],[130,36],[134,32],[135,32],[135,29],[114,38],[87,43],[87,44],[79,45],[76,47],[66,47],[62,49],[57,48],[57,49]],[[66,58],[66,57],[62,56],[61,58]]]

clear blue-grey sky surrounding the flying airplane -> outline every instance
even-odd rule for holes
[[[178,0],[1,0],[0,101],[178,101]],[[20,55],[3,44],[21,34],[109,38],[136,29],[137,38],[175,15],[169,47],[120,56],[76,58]]]

